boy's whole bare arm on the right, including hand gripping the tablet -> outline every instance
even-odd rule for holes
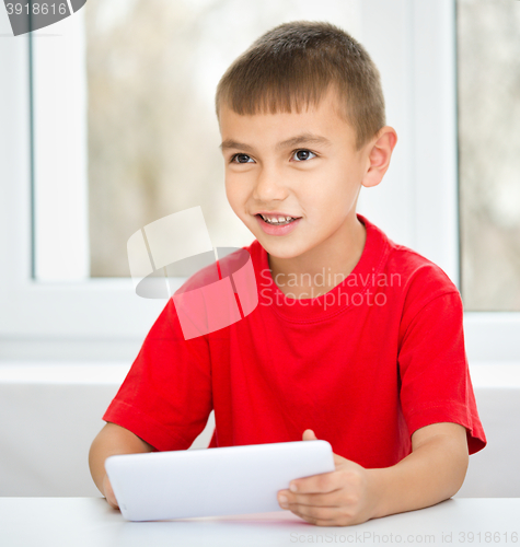
[[[314,432],[305,430],[303,440],[312,439]],[[457,493],[470,459],[463,426],[420,428],[412,435],[412,450],[397,464],[375,469],[334,454],[336,470],[292,480],[291,490],[278,492],[280,507],[312,524],[347,526],[423,509]]]

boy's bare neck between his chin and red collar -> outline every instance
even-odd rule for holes
[[[296,299],[316,298],[339,284],[361,258],[367,229],[356,214],[317,247],[293,258],[267,254],[275,283]]]

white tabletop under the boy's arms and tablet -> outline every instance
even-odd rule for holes
[[[289,511],[132,523],[102,498],[0,498],[2,547],[515,546],[519,536],[519,498],[450,499],[343,527],[314,526]]]

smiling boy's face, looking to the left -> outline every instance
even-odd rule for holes
[[[220,109],[228,200],[269,255],[293,258],[334,234],[337,240],[338,231],[356,229],[370,147],[355,151],[355,130],[338,117],[335,101],[330,91],[317,107],[300,114],[241,116],[227,105]],[[311,133],[321,140],[284,143]],[[299,219],[271,226],[259,212]]]

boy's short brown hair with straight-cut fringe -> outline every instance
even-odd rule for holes
[[[222,104],[240,115],[290,113],[292,106],[299,113],[317,105],[331,84],[359,151],[385,125],[380,73],[363,46],[328,22],[282,23],[257,38],[220,79],[217,117]]]

